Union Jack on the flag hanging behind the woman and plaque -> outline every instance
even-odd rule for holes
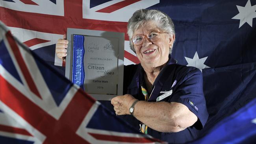
[[[137,9],[159,0],[0,0],[0,20],[21,42],[47,63],[63,66],[55,55],[55,44],[67,28],[126,33],[126,25]],[[139,63],[125,37],[124,65]]]

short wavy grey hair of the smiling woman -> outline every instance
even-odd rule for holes
[[[144,27],[148,21],[158,22],[157,28],[159,28],[161,31],[168,32],[170,35],[175,35],[173,20],[167,14],[155,9],[139,9],[134,12],[127,25],[127,34],[130,39],[130,48],[134,52],[134,46],[131,41],[134,31]],[[170,47],[170,54],[172,49],[173,46]]]

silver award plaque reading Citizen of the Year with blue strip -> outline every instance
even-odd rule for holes
[[[124,33],[67,29],[65,76],[97,100],[122,95]]]

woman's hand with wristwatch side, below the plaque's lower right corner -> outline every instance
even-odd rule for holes
[[[115,98],[112,98],[111,104],[114,106],[115,114],[130,114],[130,106],[135,100],[136,99],[130,94],[125,94],[123,96],[116,96]]]

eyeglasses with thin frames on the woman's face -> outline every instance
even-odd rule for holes
[[[154,31],[150,31],[147,35],[137,34],[132,36],[131,41],[136,46],[141,45],[145,37],[148,39],[148,41],[155,42],[155,41],[158,41],[160,34],[162,33],[167,33],[167,32],[159,32],[154,30]]]

